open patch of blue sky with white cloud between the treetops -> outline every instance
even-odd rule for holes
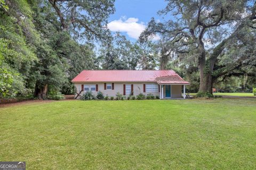
[[[127,39],[135,41],[152,17],[161,20],[157,11],[166,4],[164,0],[116,0],[116,12],[110,15],[108,28],[113,32],[120,31]]]

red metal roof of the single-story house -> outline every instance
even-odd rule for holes
[[[72,82],[157,82],[189,84],[173,70],[84,70]]]

